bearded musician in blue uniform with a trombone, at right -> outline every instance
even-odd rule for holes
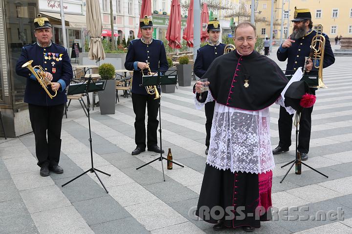
[[[287,59],[286,75],[294,74],[295,71],[302,67],[304,68],[305,57],[310,54],[310,45],[313,37],[316,35],[316,31],[312,29],[312,20],[309,9],[296,9],[294,12],[293,22],[293,33],[288,39],[282,43],[277,51],[277,58],[280,61]],[[331,50],[329,37],[324,34],[325,37],[325,53],[323,68],[330,66],[334,63],[335,57]],[[314,61],[315,65],[318,66],[319,61]],[[306,65],[306,73],[317,74],[317,69],[313,67],[313,62],[308,59]],[[315,88],[310,88],[312,94],[315,94]],[[310,130],[311,130],[311,113],[313,107],[303,109],[300,119],[300,129],[298,137],[298,151],[301,154],[302,160],[308,159],[309,141],[310,141]],[[281,154],[289,150],[291,145],[291,130],[292,130],[292,116],[289,115],[285,108],[280,107],[279,117],[279,145],[273,150],[273,154]]]

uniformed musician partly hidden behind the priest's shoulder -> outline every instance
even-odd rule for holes
[[[210,64],[214,61],[214,59],[218,58],[219,56],[223,55],[225,44],[219,42],[220,38],[220,23],[215,18],[215,20],[208,22],[208,34],[209,39],[208,43],[199,48],[197,51],[197,58],[194,63],[194,73],[197,77],[201,78],[205,72],[208,70]],[[210,130],[213,121],[214,115],[214,106],[215,101],[207,102],[205,104],[205,131],[206,131],[206,138],[205,138],[205,145],[206,150],[205,154],[208,155],[209,151],[209,143],[210,143]]]

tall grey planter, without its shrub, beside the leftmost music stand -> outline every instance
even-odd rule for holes
[[[100,114],[113,115],[115,114],[115,98],[116,98],[116,83],[114,79],[108,79],[105,90],[99,91],[99,107]]]

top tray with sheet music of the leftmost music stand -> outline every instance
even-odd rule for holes
[[[96,78],[96,77],[95,77]],[[78,81],[77,83],[70,83],[67,90],[67,95],[84,94],[96,91],[103,91],[106,85],[106,79],[97,81],[91,80],[89,82],[89,88],[87,90],[88,79],[73,79]]]

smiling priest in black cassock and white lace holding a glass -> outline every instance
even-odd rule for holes
[[[216,101],[196,215],[215,230],[242,226],[252,232],[269,219],[275,167],[269,106],[285,106],[281,92],[288,80],[273,60],[254,51],[254,25],[240,23],[234,42],[236,50],[215,59],[202,76],[210,91],[201,93],[204,83],[196,84],[197,108]]]

